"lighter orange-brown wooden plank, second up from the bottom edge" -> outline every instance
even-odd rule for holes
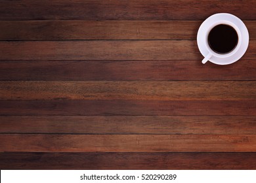
[[[256,135],[10,135],[0,152],[256,152]]]

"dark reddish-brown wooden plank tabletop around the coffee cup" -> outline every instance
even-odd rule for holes
[[[203,20],[244,20],[232,65]],[[256,169],[256,1],[0,1],[1,169]]]

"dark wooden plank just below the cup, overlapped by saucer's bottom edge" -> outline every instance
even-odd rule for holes
[[[0,80],[255,80],[256,61],[1,61]]]

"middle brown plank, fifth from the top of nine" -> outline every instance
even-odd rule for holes
[[[244,100],[256,99],[255,81],[0,82],[0,100]]]

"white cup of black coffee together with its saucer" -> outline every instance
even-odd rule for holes
[[[213,14],[198,30],[198,48],[208,60],[226,65],[238,61],[245,54],[249,44],[247,28],[236,16],[227,13]]]

